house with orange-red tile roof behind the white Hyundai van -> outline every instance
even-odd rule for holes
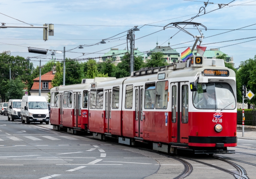
[[[48,92],[52,88],[52,80],[54,78],[54,71],[50,71],[41,75],[41,96],[45,96],[46,100],[48,100]],[[39,77],[33,79],[34,84],[31,88],[30,95],[31,96],[38,96],[39,95]]]

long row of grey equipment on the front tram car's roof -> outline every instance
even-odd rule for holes
[[[176,70],[176,69],[182,69],[185,67],[186,67],[186,63],[174,63],[171,65],[159,66],[159,67],[145,67],[145,68],[141,68],[139,71],[132,72],[131,76],[150,75],[150,74],[158,73],[160,71]]]

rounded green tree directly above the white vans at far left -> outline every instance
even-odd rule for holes
[[[8,101],[10,99],[22,99],[25,95],[25,84],[20,78],[12,79],[8,81],[8,89],[5,93],[5,99]]]

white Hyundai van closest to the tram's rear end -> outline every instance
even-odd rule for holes
[[[45,122],[49,124],[49,110],[44,96],[23,96],[21,104],[22,123]]]

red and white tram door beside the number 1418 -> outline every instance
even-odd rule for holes
[[[73,92],[74,94],[74,126],[76,128],[81,127],[81,93],[80,92]]]

